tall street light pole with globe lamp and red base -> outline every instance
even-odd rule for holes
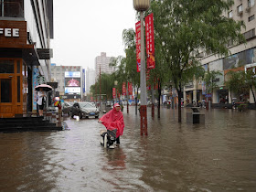
[[[150,0],[133,0],[133,7],[140,12],[141,20],[141,135],[147,135],[147,112],[146,112],[146,79],[145,79],[145,56],[144,56],[144,11],[150,6]]]

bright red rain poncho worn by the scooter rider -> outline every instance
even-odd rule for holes
[[[107,130],[114,130],[117,129],[116,132],[116,138],[119,137],[120,135],[123,135],[123,128],[124,128],[124,123],[123,123],[123,113],[121,111],[116,111],[115,107],[119,106],[118,103],[115,103],[113,106],[113,109],[110,112],[107,112],[104,114],[100,122],[105,125]]]

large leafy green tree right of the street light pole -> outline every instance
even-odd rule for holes
[[[178,93],[178,122],[181,122],[182,89],[190,69],[196,69],[199,50],[228,56],[229,39],[240,43],[241,22],[222,16],[233,1],[162,0],[153,1],[155,37],[162,42],[161,52]],[[188,77],[187,77],[188,75]],[[190,77],[189,77],[190,76]]]

